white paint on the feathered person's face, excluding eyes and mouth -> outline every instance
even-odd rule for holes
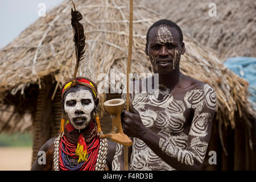
[[[81,100],[82,99],[90,99],[91,103],[88,105],[82,105]],[[75,100],[76,105],[75,106],[67,106],[67,101]],[[77,130],[84,129],[88,123],[90,122],[90,113],[94,109],[94,101],[92,97],[92,93],[90,93],[89,90],[79,90],[77,92],[71,92],[68,93],[66,98],[65,98],[65,105],[64,105],[64,110],[68,114],[69,121],[75,127]],[[81,110],[84,112],[84,114],[79,115],[80,117],[86,117],[86,121],[81,125],[77,126],[73,122],[73,118],[77,116],[75,113],[76,110]]]

